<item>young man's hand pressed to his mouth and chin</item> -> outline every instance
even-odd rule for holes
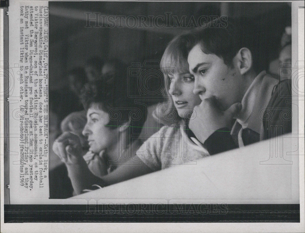
[[[235,103],[227,110],[221,111],[214,98],[206,98],[200,105],[194,107],[188,127],[197,139],[204,143],[214,131],[230,128],[233,117],[241,110],[241,107],[241,103]]]

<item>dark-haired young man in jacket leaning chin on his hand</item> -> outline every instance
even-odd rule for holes
[[[291,80],[257,73],[255,38],[242,33],[229,23],[190,38],[189,69],[202,102],[189,128],[210,154],[291,132]]]

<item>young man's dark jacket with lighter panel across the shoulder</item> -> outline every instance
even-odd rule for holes
[[[212,155],[290,133],[291,101],[290,79],[278,82],[265,71],[261,72],[246,92],[242,100],[246,109],[236,119],[231,132],[229,128],[221,128],[203,146]]]

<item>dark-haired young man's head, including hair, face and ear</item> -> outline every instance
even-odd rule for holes
[[[239,22],[230,20],[224,27],[197,31],[188,46],[194,93],[202,100],[213,98],[222,111],[241,102],[259,69],[255,65],[257,55],[252,53],[252,28],[247,22]]]

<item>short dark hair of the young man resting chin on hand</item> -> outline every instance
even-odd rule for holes
[[[205,54],[215,54],[224,60],[226,65],[232,65],[232,60],[240,48],[246,47],[252,53],[253,68],[256,72],[263,70],[258,54],[260,45],[255,34],[257,26],[247,18],[232,19],[227,21],[215,20],[203,30],[195,31],[190,36],[187,44],[188,52],[200,44]]]

